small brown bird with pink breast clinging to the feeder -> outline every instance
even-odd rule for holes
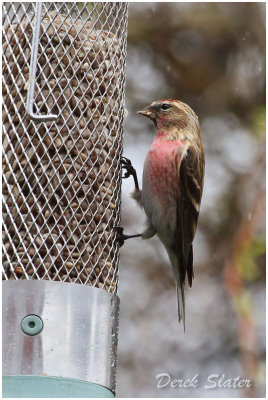
[[[121,235],[121,244],[131,237],[149,239],[157,235],[172,265],[178,298],[178,320],[185,331],[186,277],[189,287],[194,278],[193,240],[203,193],[205,154],[198,117],[185,103],[164,99],[142,111],[155,126],[155,138],[144,162],[142,189],[131,161],[122,158],[125,178],[133,175],[131,196],[144,209],[145,231]],[[121,229],[121,234],[122,230]]]

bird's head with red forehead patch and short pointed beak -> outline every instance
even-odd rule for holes
[[[138,114],[151,119],[157,130],[198,128],[198,117],[187,104],[179,100],[157,100]]]

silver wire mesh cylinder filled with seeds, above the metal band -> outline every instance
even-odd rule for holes
[[[3,279],[116,292],[127,3],[3,3]]]

